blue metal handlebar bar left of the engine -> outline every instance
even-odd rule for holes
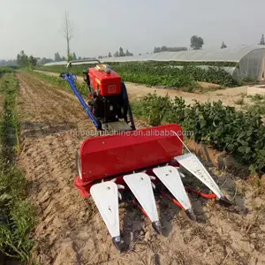
[[[82,96],[79,94],[78,88],[75,87],[75,85],[74,85],[74,81],[77,79],[76,76],[73,75],[72,73],[61,73],[60,77],[62,77],[64,80],[67,80],[67,82],[69,83],[70,87],[72,88],[72,91],[78,97],[79,102],[81,103],[81,105],[83,106],[84,110],[86,111],[87,116],[92,120],[92,122],[94,123],[96,129],[101,130],[102,129],[102,125],[95,119],[95,117],[94,117],[93,113],[91,112],[91,110],[89,109],[87,103],[84,101]]]

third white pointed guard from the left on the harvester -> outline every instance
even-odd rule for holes
[[[191,201],[176,168],[173,166],[164,166],[155,168],[153,171],[157,178],[163,182],[163,185],[169,189],[170,193],[172,193],[186,210],[192,209]]]

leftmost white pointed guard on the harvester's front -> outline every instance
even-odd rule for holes
[[[117,184],[112,181],[95,184],[90,193],[111,237],[119,237]]]

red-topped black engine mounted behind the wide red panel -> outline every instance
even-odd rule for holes
[[[102,123],[124,118],[127,122],[127,98],[125,85],[120,76],[109,65],[98,64],[83,72],[87,82],[90,101],[88,106]]]

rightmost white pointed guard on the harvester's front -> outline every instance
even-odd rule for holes
[[[208,186],[208,188],[215,193],[219,199],[223,197],[223,193],[217,186],[215,180],[210,176],[208,170],[206,170],[196,155],[190,153],[176,156],[174,159],[186,168],[186,170],[189,170],[196,178],[199,178],[201,182]]]

